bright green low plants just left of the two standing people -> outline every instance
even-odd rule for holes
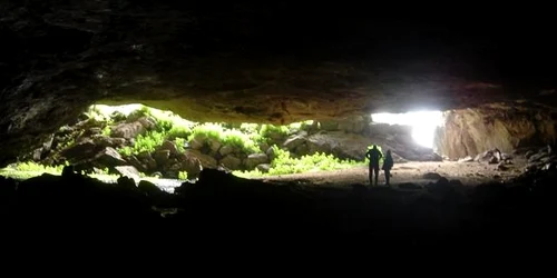
[[[276,146],[272,147],[275,153],[275,159],[271,163],[271,169],[267,173],[255,169],[253,171],[234,171],[238,177],[251,178],[262,176],[289,175],[299,172],[330,171],[348,169],[355,166],[362,166],[364,161],[341,160],[333,155],[316,152],[312,156],[306,155],[300,158],[291,157],[290,152],[282,150]]]

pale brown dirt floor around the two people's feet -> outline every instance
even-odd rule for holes
[[[512,165],[506,165],[507,170],[498,170],[497,165],[487,162],[404,162],[395,163],[391,170],[391,185],[397,188],[404,182],[427,185],[437,179],[424,179],[423,175],[437,172],[442,177],[458,179],[466,186],[477,186],[494,180],[505,181],[524,172],[526,160],[515,159]],[[354,183],[369,185],[368,167],[355,167],[335,171],[282,175],[257,178],[267,182],[296,182],[303,186],[349,187]],[[379,176],[379,185],[384,185],[384,172]]]

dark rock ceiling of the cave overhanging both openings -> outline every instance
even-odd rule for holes
[[[2,1],[0,165],[94,102],[287,123],[554,93],[551,17],[380,6]]]

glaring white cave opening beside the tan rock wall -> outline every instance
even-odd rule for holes
[[[443,123],[441,111],[418,111],[408,113],[373,113],[374,122],[412,127],[412,138],[423,147],[433,148],[436,128]]]

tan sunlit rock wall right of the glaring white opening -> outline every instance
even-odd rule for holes
[[[498,148],[554,145],[557,136],[554,109],[526,103],[494,103],[477,109],[450,110],[436,135],[438,151],[450,159],[476,156]]]

